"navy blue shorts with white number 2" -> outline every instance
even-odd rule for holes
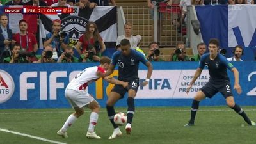
[[[233,96],[230,81],[223,81],[221,83],[212,83],[209,81],[202,88],[200,88],[200,90],[204,92],[205,97],[209,98],[212,98],[218,92],[220,92],[225,99]]]

